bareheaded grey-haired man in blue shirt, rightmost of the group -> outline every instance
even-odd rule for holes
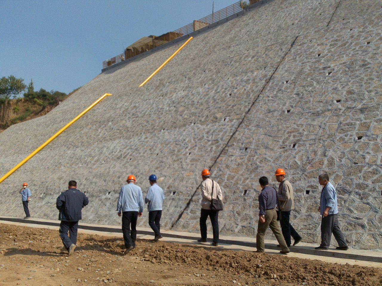
[[[320,207],[318,211],[321,215],[321,244],[316,247],[317,250],[329,249],[332,233],[337,240],[339,250],[348,250],[345,238],[338,225],[338,206],[337,193],[332,183],[329,182],[329,175],[326,173],[320,174],[318,182],[324,186],[321,191]]]

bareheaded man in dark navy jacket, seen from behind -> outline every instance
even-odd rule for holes
[[[68,190],[57,198],[56,207],[60,211],[58,219],[61,220],[60,237],[68,255],[72,255],[76,248],[78,221],[81,219],[82,208],[87,204],[89,200],[84,193],[77,190],[76,181],[69,181]]]

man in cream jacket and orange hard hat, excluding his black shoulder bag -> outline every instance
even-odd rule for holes
[[[219,211],[210,209],[212,198],[223,199],[222,190],[220,190],[220,186],[217,182],[214,182],[210,179],[210,171],[208,169],[202,170],[202,179],[201,183],[201,191],[202,191],[202,201],[201,201],[201,214],[199,219],[200,224],[200,234],[201,239],[198,239],[198,242],[207,242],[207,217],[210,217],[212,223],[212,233],[214,238],[212,239],[212,245],[219,245],[219,222],[218,215]],[[213,186],[213,193],[212,193]]]

